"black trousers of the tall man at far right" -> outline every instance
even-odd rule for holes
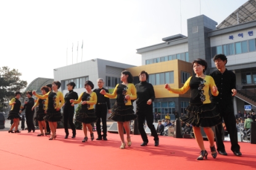
[[[233,103],[216,103],[217,111],[220,113],[220,116],[224,119],[226,130],[229,133],[230,142],[231,142],[231,150],[232,151],[239,151],[240,146],[238,145],[237,141],[237,129],[236,129],[236,118],[234,116],[234,108]],[[222,124],[218,124],[215,126],[215,138],[217,144],[217,150],[222,151],[225,150],[225,146],[222,140]]]

